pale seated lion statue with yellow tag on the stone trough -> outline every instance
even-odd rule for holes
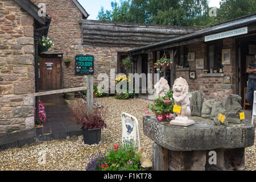
[[[188,83],[184,78],[177,78],[172,86],[175,105],[181,106],[180,114],[170,122],[171,125],[189,126],[195,121],[188,119],[191,116],[190,101],[188,97]]]

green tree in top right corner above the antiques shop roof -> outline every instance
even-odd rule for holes
[[[212,18],[212,23],[225,22],[256,12],[255,0],[221,0],[217,17]]]

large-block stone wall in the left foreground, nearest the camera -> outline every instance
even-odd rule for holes
[[[34,127],[34,19],[13,0],[0,2],[0,135]]]

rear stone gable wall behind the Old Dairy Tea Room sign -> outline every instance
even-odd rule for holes
[[[106,47],[106,46],[82,46],[82,26],[79,20],[82,20],[82,13],[72,0],[32,0],[36,5],[38,3],[46,4],[46,13],[52,18],[48,37],[55,46],[46,53],[63,54],[63,60],[67,57],[73,59],[73,63],[67,66],[63,61],[63,85],[64,88],[73,88],[86,84],[84,76],[75,76],[75,56],[81,54],[94,55],[95,76],[94,82],[97,82],[97,76],[100,73],[110,74],[110,69],[117,69],[117,51],[127,51],[131,48]],[[83,81],[81,81],[83,80]]]

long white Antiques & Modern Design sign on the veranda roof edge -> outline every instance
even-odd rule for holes
[[[247,34],[247,32],[248,32],[247,27],[238,28],[236,30],[229,30],[226,32],[218,33],[218,34],[205,36],[205,42],[209,42],[209,41],[217,40],[217,39],[229,38],[231,36]]]

